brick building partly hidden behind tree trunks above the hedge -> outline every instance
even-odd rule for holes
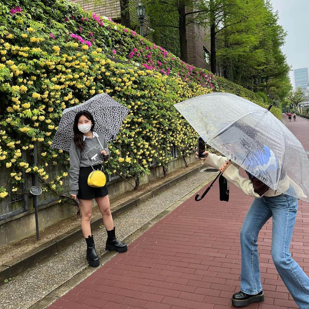
[[[85,0],[69,0],[79,3],[85,11],[93,11],[101,16],[110,17],[114,22],[120,23],[120,4],[118,0],[102,0],[102,5],[95,5]],[[138,3],[138,0],[136,0]],[[130,10],[130,19],[137,21],[134,8]],[[147,19],[145,20],[147,28]],[[188,63],[193,66],[210,70],[210,32],[205,27],[191,23],[187,26]],[[152,41],[150,37],[148,40]],[[220,68],[217,69],[221,76]]]

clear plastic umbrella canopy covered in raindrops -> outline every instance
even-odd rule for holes
[[[271,112],[230,93],[175,105],[208,145],[270,188],[309,201],[309,159],[303,145]]]

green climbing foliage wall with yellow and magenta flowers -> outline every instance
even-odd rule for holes
[[[149,174],[150,162],[166,170],[172,147],[183,157],[193,152],[196,132],[173,105],[219,90],[212,74],[64,0],[8,3],[0,6],[0,22],[7,21],[9,32],[0,39],[0,167],[11,177],[0,197],[18,191],[22,171],[38,174],[44,190],[61,192],[68,173],[48,175],[46,166],[65,162],[68,168],[68,154],[50,149],[53,136],[64,108],[97,93],[108,93],[131,111],[109,145],[109,174],[134,179],[137,187],[139,177]],[[16,5],[21,11],[10,14]],[[112,54],[132,64],[115,63],[107,57]],[[222,78],[218,83],[221,90],[256,99]],[[39,162],[31,165],[34,143]]]

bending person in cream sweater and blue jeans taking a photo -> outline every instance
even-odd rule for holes
[[[273,218],[271,255],[275,267],[300,309],[309,308],[309,278],[292,259],[290,242],[297,214],[297,198],[275,192],[256,177],[239,175],[239,170],[226,157],[205,151],[206,165],[218,168],[223,176],[245,194],[255,197],[240,231],[241,276],[240,292],[232,296],[232,305],[246,307],[264,301],[260,280],[257,239],[260,229]],[[197,156],[198,158],[198,156]],[[291,181],[290,181],[291,182]]]

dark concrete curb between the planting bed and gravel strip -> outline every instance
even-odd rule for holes
[[[205,168],[204,165],[198,166],[189,172],[185,172],[180,176],[176,176],[175,178],[167,181],[166,183],[161,184],[149,191],[146,191],[145,193],[142,193],[141,195],[139,195],[134,199],[131,199],[129,201],[120,204],[116,209],[112,210],[112,216],[116,217],[127,210],[133,209],[134,207],[140,205],[142,202],[150,199],[151,197],[155,197],[156,195],[162,193],[163,191],[166,191],[176,183],[187,179],[188,177],[199,172],[203,168]],[[99,218],[94,222],[91,222],[91,227],[93,230],[96,230],[99,228],[101,224],[102,219]],[[37,248],[32,249],[31,251],[18,257],[17,259],[13,259],[4,265],[0,265],[0,285],[6,278],[12,278],[17,274],[28,269],[31,265],[39,263],[44,258],[49,257],[61,251],[62,249],[66,248],[76,239],[80,238],[80,235],[81,235],[80,227],[73,228],[70,231],[64,233],[63,235],[60,235],[57,238],[50,240],[40,245]]]

